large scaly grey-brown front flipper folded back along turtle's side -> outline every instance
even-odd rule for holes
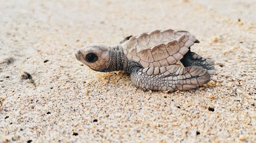
[[[210,81],[209,73],[201,67],[177,65],[133,70],[131,78],[138,88],[153,91],[187,91]]]

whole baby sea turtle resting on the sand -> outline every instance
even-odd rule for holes
[[[100,72],[124,70],[136,87],[152,91],[187,91],[210,81],[214,61],[190,51],[199,43],[187,31],[164,30],[129,36],[117,46],[89,44],[76,59]],[[175,65],[181,61],[184,67]]]

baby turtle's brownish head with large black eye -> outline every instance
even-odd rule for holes
[[[104,44],[89,44],[75,53],[76,59],[95,71],[103,71],[109,64],[110,47]]]

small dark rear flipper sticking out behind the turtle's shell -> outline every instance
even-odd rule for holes
[[[201,55],[191,52],[190,50],[180,60],[184,67],[198,66],[207,70],[209,74],[215,74],[216,69],[214,67],[214,61],[205,59]]]

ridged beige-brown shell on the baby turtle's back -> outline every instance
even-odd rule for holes
[[[169,29],[133,36],[121,46],[128,59],[146,68],[175,64],[195,42],[199,41],[189,32]]]

